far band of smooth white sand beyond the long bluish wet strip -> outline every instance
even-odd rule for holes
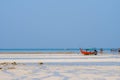
[[[43,53],[1,53],[0,62],[120,62],[120,55],[81,55],[81,54],[43,54]]]

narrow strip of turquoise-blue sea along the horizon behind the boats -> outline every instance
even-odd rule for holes
[[[93,51],[93,50],[97,50],[98,52],[100,51],[100,48],[84,48],[84,50],[88,49],[88,51]],[[107,52],[107,53],[111,53],[110,52],[110,48],[104,48],[103,51]],[[117,49],[116,49],[117,51]],[[0,49],[0,52],[76,52],[79,53],[80,52],[80,48],[59,48],[59,49],[55,49],[55,48],[49,48],[49,49]]]

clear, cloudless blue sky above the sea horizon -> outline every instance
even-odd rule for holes
[[[120,47],[120,0],[0,0],[0,48]]]

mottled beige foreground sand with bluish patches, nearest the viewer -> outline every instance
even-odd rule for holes
[[[2,64],[2,80],[120,80],[120,66]]]

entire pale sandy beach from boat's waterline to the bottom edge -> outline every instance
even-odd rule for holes
[[[104,65],[99,64],[104,62]],[[92,63],[94,65],[91,65]],[[2,80],[120,80],[120,55],[2,53],[0,78]]]

